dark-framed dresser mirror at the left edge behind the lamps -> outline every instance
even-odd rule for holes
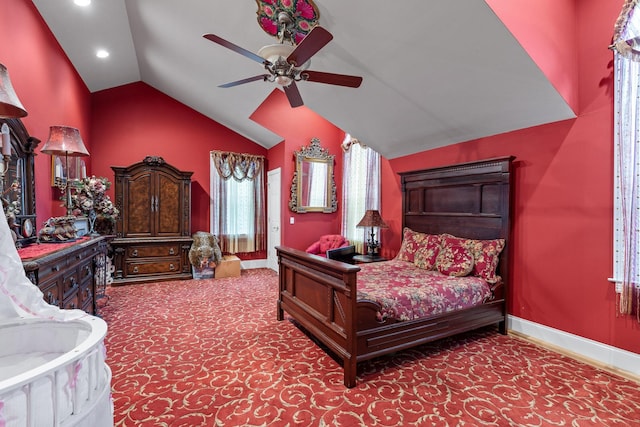
[[[2,208],[15,244],[20,248],[37,239],[34,150],[40,140],[29,136],[20,119],[0,119],[0,127]]]

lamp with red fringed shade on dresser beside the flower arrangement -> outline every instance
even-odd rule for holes
[[[51,156],[64,156],[65,171],[55,171],[55,184],[65,192],[64,202],[67,217],[72,217],[73,202],[71,200],[71,176],[69,174],[69,157],[88,156],[89,152],[82,142],[80,131],[69,126],[51,126],[49,139],[41,152]],[[57,169],[57,168],[56,168]]]

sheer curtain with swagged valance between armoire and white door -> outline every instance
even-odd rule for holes
[[[265,250],[263,156],[211,152],[211,233],[225,253]]]

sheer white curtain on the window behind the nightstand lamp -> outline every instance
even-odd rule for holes
[[[380,209],[380,154],[345,136],[342,173],[342,235],[365,253],[364,243],[370,230],[357,228],[367,209]],[[379,235],[379,230],[375,230]]]

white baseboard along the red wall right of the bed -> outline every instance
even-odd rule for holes
[[[543,344],[550,344],[593,361],[604,368],[623,371],[640,378],[640,354],[553,329],[515,316],[507,316],[507,328]]]

